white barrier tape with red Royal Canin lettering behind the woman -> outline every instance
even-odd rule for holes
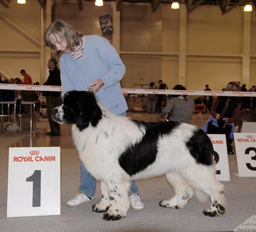
[[[0,90],[33,90],[61,92],[61,86],[26,85],[26,84],[0,84]],[[123,94],[168,94],[168,95],[194,95],[194,96],[236,96],[256,97],[256,92],[228,92],[203,90],[153,90],[122,88]]]

